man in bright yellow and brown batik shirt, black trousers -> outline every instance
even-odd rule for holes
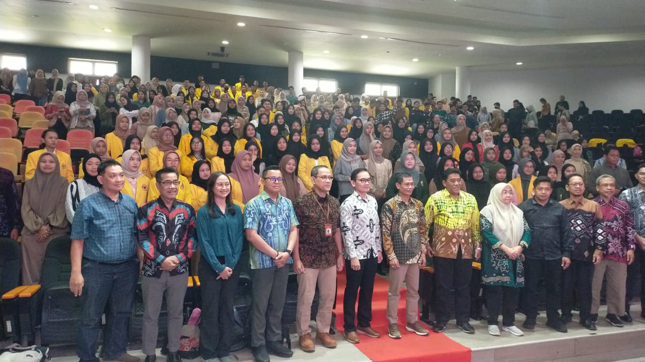
[[[470,279],[473,251],[475,259],[479,259],[482,236],[477,200],[461,191],[461,182],[458,169],[446,169],[446,188],[431,195],[425,207],[428,227],[434,226],[432,247],[427,249],[428,255],[434,255],[437,322],[432,330],[437,333],[446,329],[453,306],[457,327],[468,334],[475,333],[469,323]]]

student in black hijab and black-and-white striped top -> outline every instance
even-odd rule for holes
[[[72,224],[76,207],[87,196],[94,195],[101,191],[101,184],[97,179],[99,175],[99,164],[101,157],[95,153],[90,153],[83,158],[81,167],[83,167],[83,176],[79,176],[70,183],[65,198],[65,210],[67,220]]]

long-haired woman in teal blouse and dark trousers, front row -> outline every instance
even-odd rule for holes
[[[199,352],[204,360],[231,361],[233,298],[244,244],[242,210],[233,204],[230,178],[215,172],[208,178],[206,205],[197,212],[197,236],[201,248],[199,278],[203,285]]]

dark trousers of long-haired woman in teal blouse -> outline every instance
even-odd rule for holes
[[[220,259],[224,263],[224,258]],[[235,326],[233,300],[239,282],[241,267],[233,268],[227,279],[217,279],[219,274],[203,257],[199,260],[202,306],[199,329],[199,354],[203,359],[228,356],[231,349],[232,330]],[[206,327],[206,328],[204,328]]]

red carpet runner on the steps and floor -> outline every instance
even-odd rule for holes
[[[349,266],[349,265],[348,265]],[[345,291],[345,272],[338,274],[338,298],[336,301],[336,328],[342,333],[342,297]],[[372,328],[381,333],[381,338],[359,334],[361,343],[355,345],[374,362],[470,362],[470,348],[464,347],[441,333],[430,332],[429,336],[417,336],[405,330],[405,289],[399,300],[399,329],[401,339],[388,336],[388,321],[385,318],[388,304],[388,281],[381,276],[374,280],[372,298]],[[422,323],[424,325],[424,323]],[[424,325],[426,329],[430,329]]]

